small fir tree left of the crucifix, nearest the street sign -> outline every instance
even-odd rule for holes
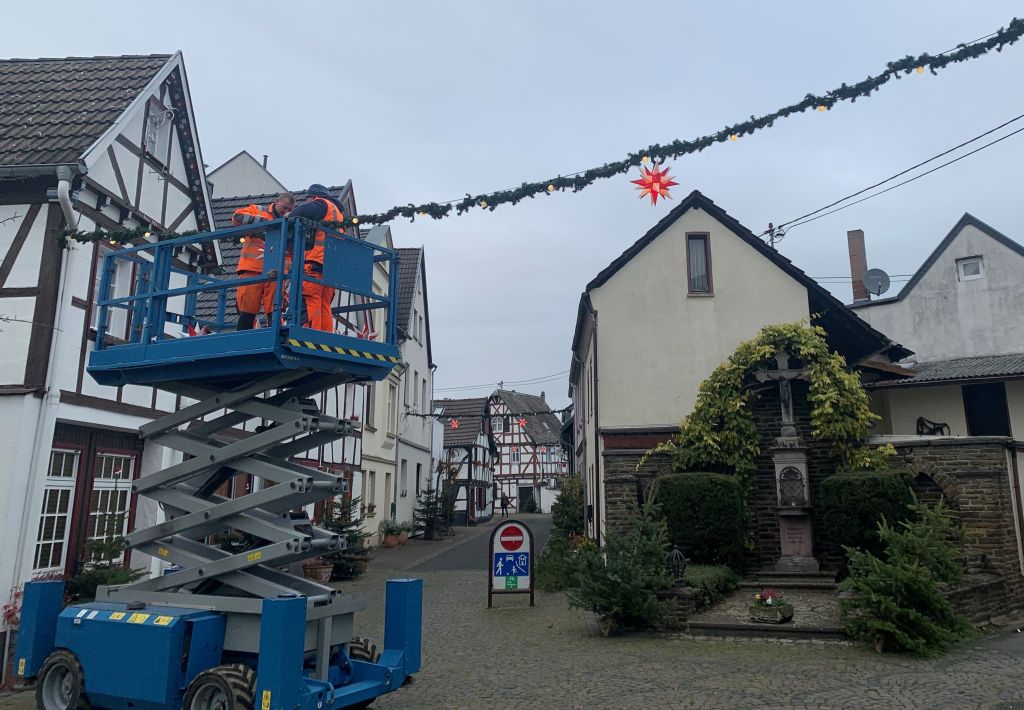
[[[672,583],[668,547],[668,526],[648,500],[625,531],[608,532],[603,549],[583,548],[575,555],[579,587],[568,591],[569,605],[596,614],[605,636],[656,625],[663,604],[655,592]]]

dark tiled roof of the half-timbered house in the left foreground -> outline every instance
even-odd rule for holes
[[[0,59],[0,166],[77,162],[170,58]]]

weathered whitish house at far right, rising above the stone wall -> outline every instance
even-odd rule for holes
[[[898,294],[850,308],[914,352],[867,385],[878,433],[1024,437],[1024,246],[965,214]]]

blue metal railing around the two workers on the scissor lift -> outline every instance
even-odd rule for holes
[[[318,278],[303,268],[307,241],[312,244],[317,231],[325,233],[324,270]],[[264,240],[263,272],[259,276],[202,273],[187,267],[178,258],[210,242],[228,245],[254,237]],[[133,276],[129,294],[116,296],[112,292],[115,286],[124,288],[124,284],[117,283],[121,264],[128,264]],[[388,272],[385,294],[374,291],[377,264]],[[224,263],[218,270],[233,272],[236,266],[237,263]],[[273,329],[275,337],[303,325],[302,287],[311,283],[333,288],[340,294],[334,301],[335,314],[362,311],[369,318],[372,312],[384,311],[385,342],[394,344],[397,273],[394,250],[304,219],[275,219],[118,249],[103,257],[96,296],[99,312],[95,349],[181,337],[188,333],[189,327],[205,326],[213,333],[230,332],[236,324],[227,317],[228,299],[236,296],[240,286],[266,282],[275,286],[273,309],[266,315],[267,327]],[[124,343],[121,334],[109,332],[116,310],[126,314]]]

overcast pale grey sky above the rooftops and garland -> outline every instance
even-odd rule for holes
[[[51,1],[5,13],[8,57],[182,50],[207,164],[268,154],[290,187],[351,178],[376,212],[713,132],[986,35],[1024,4]],[[1022,87],[1024,42],[675,161],[674,195],[700,190],[761,232],[1024,113]],[[860,227],[869,266],[909,274],[965,211],[1024,241],[1022,158],[1024,134],[794,229],[780,251],[812,276],[847,276],[846,231]],[[437,387],[568,369],[584,286],[674,205],[639,201],[632,177],[393,223],[398,246],[426,247]],[[848,284],[831,288],[850,299]],[[566,387],[519,389],[561,405]]]

